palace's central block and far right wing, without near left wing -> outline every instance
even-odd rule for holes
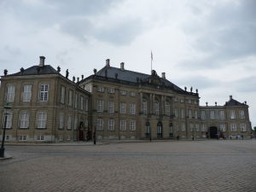
[[[200,106],[198,90],[151,75],[111,67],[79,82],[91,93],[91,125],[98,139],[250,137],[247,103]]]

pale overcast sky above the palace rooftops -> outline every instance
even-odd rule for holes
[[[247,101],[256,126],[254,0],[0,0],[0,70],[45,64],[70,78],[110,65],[199,90],[201,105]],[[0,71],[1,74],[1,71]],[[2,74],[3,75],[3,74]]]

